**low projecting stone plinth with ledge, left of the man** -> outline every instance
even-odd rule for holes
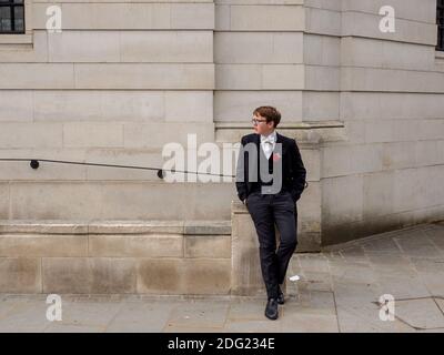
[[[230,294],[230,223],[0,224],[0,293]]]

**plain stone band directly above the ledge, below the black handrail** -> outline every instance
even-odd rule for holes
[[[18,220],[228,221],[233,194],[229,183],[13,182],[10,207]]]

